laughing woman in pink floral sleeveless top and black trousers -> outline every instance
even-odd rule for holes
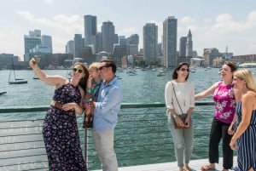
[[[230,123],[233,121],[236,108],[236,99],[233,90],[233,72],[236,65],[225,62],[221,68],[222,81],[214,83],[207,90],[195,94],[195,100],[200,100],[213,94],[215,113],[212,120],[212,128],[209,142],[209,163],[201,167],[201,170],[215,169],[218,163],[218,145],[222,139],[223,149],[223,171],[228,171],[233,166],[233,151],[230,149],[232,135],[228,134]]]

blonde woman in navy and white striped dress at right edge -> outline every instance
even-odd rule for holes
[[[240,70],[234,73],[233,83],[241,90],[241,101],[236,105],[236,133],[230,141],[232,150],[237,146],[239,171],[256,170],[256,83],[252,71]]]

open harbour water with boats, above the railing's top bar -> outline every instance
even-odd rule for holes
[[[172,77],[172,70],[166,71],[165,76],[162,77],[156,77],[158,71],[141,71],[139,69],[136,71],[136,76],[128,76],[125,71],[117,72],[117,76],[122,78],[119,79],[119,82],[124,87],[123,102],[164,102],[165,85]],[[67,76],[66,70],[46,70],[45,73]],[[54,87],[50,87],[40,80],[32,79],[33,71],[15,71],[15,75],[17,78],[26,79],[28,83],[9,85],[9,71],[0,71],[0,92],[7,92],[0,96],[1,106],[49,105]],[[218,80],[220,77],[217,68],[208,71],[198,68],[195,73],[189,75],[189,81],[195,84],[195,93],[201,92]],[[208,100],[211,100],[211,97]]]

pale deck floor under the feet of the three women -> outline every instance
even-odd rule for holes
[[[210,171],[222,171],[222,158],[219,158],[219,163],[216,164],[216,169],[211,169]],[[208,159],[201,160],[193,160],[189,162],[189,167],[192,168],[193,171],[200,171],[201,166],[208,163]],[[234,157],[234,167],[236,167],[236,157]],[[101,170],[95,170],[101,171]],[[119,168],[119,171],[178,171],[177,162],[165,162],[165,163],[157,163],[157,164],[147,164],[147,165],[139,165],[139,166],[131,166],[131,167],[123,167]]]

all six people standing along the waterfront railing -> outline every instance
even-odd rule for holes
[[[40,80],[55,87],[43,127],[49,171],[87,170],[76,114],[91,113],[94,115],[93,143],[102,170],[117,171],[113,134],[123,88],[115,77],[117,68],[113,60],[101,60],[91,64],[89,69],[77,62],[73,65],[71,79],[45,74],[35,59],[30,60],[29,65]],[[238,170],[256,171],[256,83],[250,70],[236,69],[235,64],[225,62],[220,72],[222,80],[199,94],[195,94],[194,84],[188,81],[189,64],[186,62],[177,65],[172,80],[166,83],[166,115],[179,171],[191,171],[189,160],[194,148],[191,116],[195,100],[211,94],[215,112],[209,139],[209,163],[201,170],[215,169],[222,140],[223,171],[233,167],[236,148]]]

